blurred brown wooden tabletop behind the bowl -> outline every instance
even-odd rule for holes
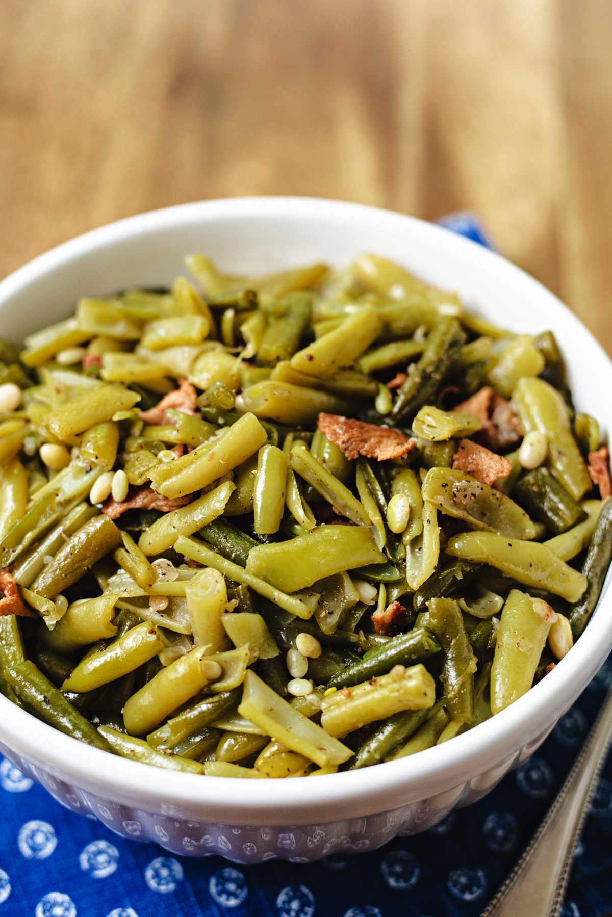
[[[612,352],[609,0],[0,6],[0,275],[211,197],[472,209]]]

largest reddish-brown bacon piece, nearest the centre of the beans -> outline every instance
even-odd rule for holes
[[[415,447],[414,439],[388,426],[364,424],[340,414],[319,414],[318,428],[347,458],[401,458]]]

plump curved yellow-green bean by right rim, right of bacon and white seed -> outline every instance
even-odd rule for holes
[[[517,383],[514,402],[525,432],[539,430],[547,436],[555,478],[574,500],[580,500],[591,490],[592,482],[573,438],[568,408],[560,392],[541,379],[523,379]]]

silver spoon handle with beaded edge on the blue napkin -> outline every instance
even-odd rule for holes
[[[562,790],[481,917],[559,917],[572,858],[612,740],[612,688]]]

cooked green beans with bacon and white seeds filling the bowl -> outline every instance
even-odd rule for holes
[[[573,654],[612,487],[551,330],[379,254],[82,292],[0,345],[6,699],[205,783],[353,779]]]

